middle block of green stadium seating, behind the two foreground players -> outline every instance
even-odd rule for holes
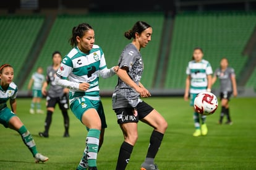
[[[149,43],[145,51],[141,50],[145,62],[144,82],[145,85],[151,86],[153,79],[148,79],[148,77],[153,77],[155,72],[164,21],[161,13],[59,15],[33,70],[36,70],[38,66],[43,66],[46,70],[46,67],[52,63],[51,54],[55,50],[61,51],[62,56],[68,53],[71,49],[68,40],[72,35],[72,28],[82,22],[87,22],[94,28],[95,44],[103,49],[108,67],[116,66],[122,49],[131,42],[124,37],[124,32],[131,29],[137,20],[144,20],[153,27],[153,41]],[[116,83],[117,78],[111,77],[103,81],[100,80],[100,87],[105,90],[113,90]]]

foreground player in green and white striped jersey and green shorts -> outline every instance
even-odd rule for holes
[[[95,32],[88,23],[74,27],[69,41],[73,49],[62,60],[55,82],[70,89],[70,109],[88,130],[86,147],[77,169],[97,169],[97,153],[107,127],[100,100],[99,76],[106,79],[115,75],[118,66],[107,68],[103,50],[94,44]]]

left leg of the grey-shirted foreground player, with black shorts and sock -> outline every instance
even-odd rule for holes
[[[124,170],[129,163],[130,155],[138,138],[137,123],[139,117],[134,108],[119,108],[114,109],[114,111],[124,135],[124,142],[119,149],[116,170]]]

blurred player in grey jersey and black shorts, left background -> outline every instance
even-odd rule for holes
[[[69,115],[67,113],[67,110],[69,109],[69,98],[67,96],[69,89],[56,85],[54,82],[56,72],[59,69],[59,66],[61,66],[61,53],[59,51],[54,51],[52,58],[53,64],[47,67],[46,81],[43,83],[43,87],[41,89],[43,95],[46,96],[47,114],[45,119],[45,131],[39,132],[39,135],[40,137],[49,137],[49,127],[51,125],[53,112],[56,104],[58,104],[64,118],[65,131],[63,137],[69,137]],[[47,90],[46,88],[48,85],[49,89]]]

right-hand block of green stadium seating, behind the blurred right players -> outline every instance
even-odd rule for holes
[[[250,12],[207,12],[177,14],[174,24],[165,88],[184,88],[187,62],[193,48],[200,46],[213,71],[227,57],[239,79],[246,56],[242,51],[256,25]],[[218,82],[215,87],[218,86]]]

